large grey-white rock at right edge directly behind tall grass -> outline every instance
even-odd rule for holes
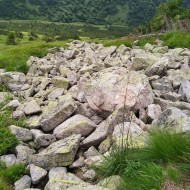
[[[170,107],[162,112],[152,124],[156,128],[166,128],[177,133],[190,131],[190,118],[180,109],[174,107]]]

